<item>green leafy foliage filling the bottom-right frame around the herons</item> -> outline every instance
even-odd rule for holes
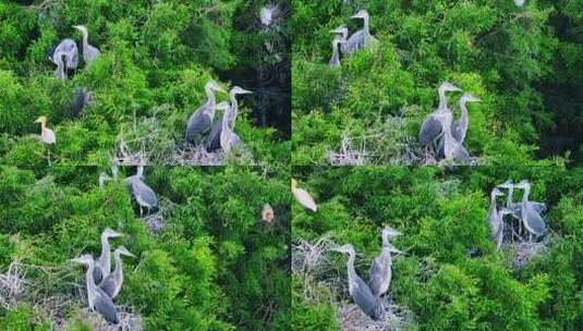
[[[389,291],[396,304],[414,314],[412,329],[579,330],[583,319],[581,171],[305,167],[294,169],[293,175],[318,204],[316,213],[293,204],[294,242],[314,243],[328,235],[337,244],[353,244],[363,279],[380,249],[379,229],[389,225],[403,233],[393,240],[405,254],[393,261]],[[544,217],[551,244],[523,268],[512,266],[512,250],[496,250],[486,223],[489,192],[509,179],[530,180],[531,199],[548,207]],[[345,260],[325,254],[347,281]],[[336,330],[339,307],[330,304],[330,296],[342,295],[335,293],[336,282],[304,281],[294,274],[293,320],[301,326],[294,330]]]

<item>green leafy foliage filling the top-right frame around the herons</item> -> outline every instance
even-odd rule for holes
[[[375,135],[367,150],[381,155],[374,156],[374,161],[393,162],[402,144],[416,142],[423,119],[437,106],[436,88],[444,81],[482,99],[469,106],[465,144],[472,156],[483,157],[487,164],[537,163],[541,148],[544,155],[569,156],[564,148],[552,149],[541,142],[557,123],[579,121],[574,113],[567,119],[554,114],[552,106],[545,105],[543,84],[554,76],[564,77],[557,75],[555,65],[563,61],[558,61],[561,46],[551,15],[569,1],[531,1],[523,10],[512,1],[293,2],[292,159],[296,164],[324,163],[325,151],[338,150],[342,134]],[[360,28],[359,20],[348,19],[360,8],[369,12],[371,29],[380,46],[343,58],[341,68],[330,70],[329,32],[344,23],[351,32]],[[564,51],[567,57],[581,59],[579,51],[570,49]],[[450,95],[453,109],[460,96]],[[411,107],[414,113],[403,111]],[[376,138],[387,130],[387,122],[398,119],[405,121],[408,139],[386,139],[382,134]],[[314,125],[320,122],[326,125]]]

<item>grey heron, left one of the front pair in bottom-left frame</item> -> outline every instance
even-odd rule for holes
[[[97,310],[108,322],[119,323],[118,311],[111,297],[95,284],[95,279],[93,278],[95,261],[93,257],[86,254],[72,259],[72,261],[87,266],[85,281],[87,283],[87,303],[89,308],[94,311]]]

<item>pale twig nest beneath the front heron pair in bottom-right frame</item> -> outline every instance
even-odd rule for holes
[[[387,297],[381,298],[381,303],[384,312],[376,321],[354,304],[340,307],[337,315],[340,328],[344,331],[400,331],[413,323],[413,314],[408,309]]]

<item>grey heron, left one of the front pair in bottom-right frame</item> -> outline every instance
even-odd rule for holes
[[[356,274],[354,269],[354,259],[356,254],[351,244],[332,248],[331,250],[348,254],[349,260],[347,262],[349,275],[349,293],[354,303],[372,319],[379,320],[382,316],[382,305],[380,299],[371,292],[368,285]]]

